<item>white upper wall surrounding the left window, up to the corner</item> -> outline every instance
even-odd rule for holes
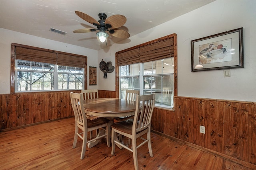
[[[63,51],[78,55],[86,55],[88,63],[87,71],[89,66],[98,67],[98,51],[96,50],[0,28],[0,94],[10,93],[11,43],[30,45],[33,47]],[[87,82],[89,83],[89,78]],[[87,84],[87,87],[88,89],[98,89],[98,75],[97,86],[89,86],[89,84]]]

